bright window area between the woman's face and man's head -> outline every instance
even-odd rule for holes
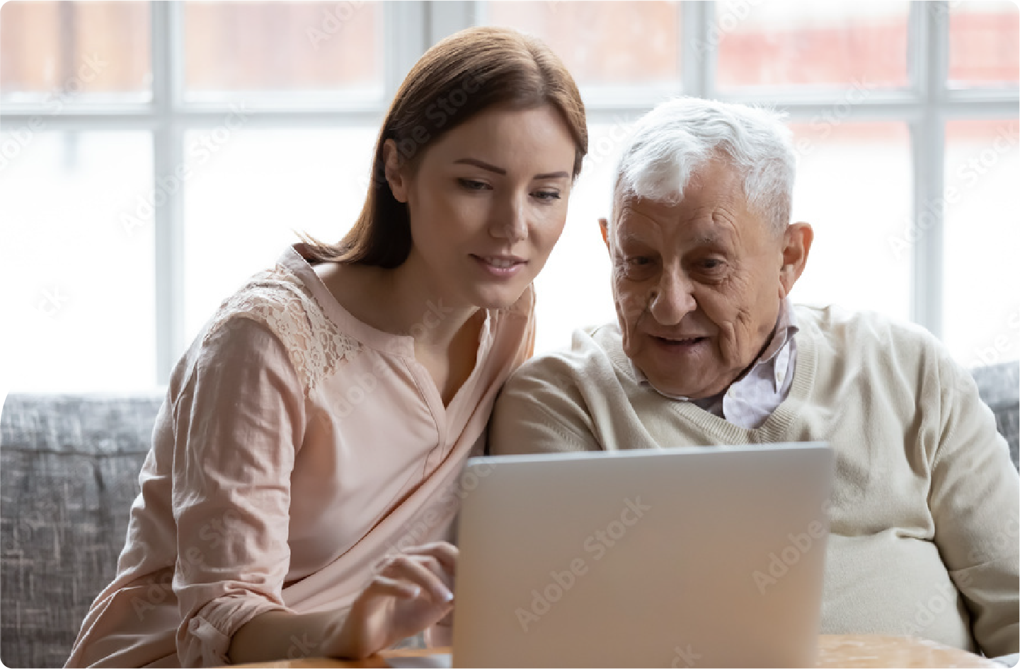
[[[599,231],[609,218],[613,173],[629,123],[590,123],[589,155],[570,196],[567,224],[534,281],[536,353],[570,344],[570,332],[616,320],[610,262]]]

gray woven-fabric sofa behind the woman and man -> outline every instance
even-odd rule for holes
[[[1020,363],[977,369],[1020,463]],[[0,414],[0,661],[61,667],[111,580],[161,393],[12,395]]]

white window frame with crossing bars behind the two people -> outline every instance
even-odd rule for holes
[[[189,101],[184,85],[184,0],[150,0],[152,99],[150,102],[95,103],[87,98],[51,115],[41,104],[0,104],[0,130],[44,116],[48,130],[148,130],[153,141],[153,185],[184,161],[189,131],[222,122],[232,105],[245,104],[250,127],[378,123],[411,65],[428,46],[469,25],[486,22],[486,0],[380,0],[382,7],[384,95],[351,100],[237,93],[217,101]],[[718,45],[707,39],[715,20],[715,0],[679,0],[680,81],[675,87],[583,89],[590,122],[614,122],[650,110],[664,94],[696,95],[729,102],[766,102],[810,120],[846,99],[847,90],[746,89],[715,86]],[[958,0],[911,0],[909,86],[874,92],[849,105],[847,122],[897,120],[908,124],[913,157],[913,224],[929,211],[927,228],[913,249],[912,319],[936,337],[942,332],[942,239],[945,212],[933,206],[944,195],[946,123],[956,119],[1010,118],[1020,108],[1020,87],[953,89],[948,82],[950,8]],[[700,45],[704,45],[700,47]],[[156,277],[156,382],[168,382],[187,348],[185,341],[184,189],[168,194],[154,211]]]

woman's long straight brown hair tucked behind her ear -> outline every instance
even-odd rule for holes
[[[402,166],[413,170],[444,134],[480,111],[500,106],[533,109],[550,104],[576,145],[573,175],[588,153],[584,104],[566,67],[538,39],[502,28],[473,28],[443,40],[415,63],[387,112],[375,142],[365,204],[339,244],[300,235],[311,261],[385,268],[400,266],[411,251],[407,205],[386,179],[382,146],[397,145]]]

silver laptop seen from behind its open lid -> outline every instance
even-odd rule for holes
[[[454,669],[814,666],[824,444],[472,458]]]

